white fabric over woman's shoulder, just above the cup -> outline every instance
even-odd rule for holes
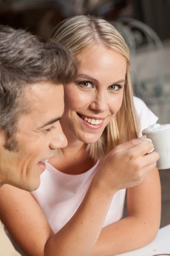
[[[158,121],[158,117],[147,107],[142,99],[134,96],[133,102],[140,119],[141,131]]]

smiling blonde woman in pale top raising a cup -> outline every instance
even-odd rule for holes
[[[159,155],[147,154],[153,144],[136,138],[157,117],[133,98],[127,45],[111,24],[91,16],[60,23],[49,44],[55,41],[79,60],[77,79],[65,85],[68,146],[48,161],[37,191],[1,189],[0,218],[28,256],[108,256],[142,247],[159,230]]]

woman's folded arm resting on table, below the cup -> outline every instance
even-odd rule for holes
[[[158,169],[127,189],[128,216],[102,229],[91,256],[112,256],[136,250],[156,237],[161,218],[161,186]]]

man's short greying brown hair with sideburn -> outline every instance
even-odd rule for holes
[[[40,81],[65,84],[77,75],[77,61],[60,44],[41,43],[24,30],[0,26],[0,129],[7,139],[24,111],[23,88]]]

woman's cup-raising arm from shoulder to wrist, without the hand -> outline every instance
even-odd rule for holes
[[[102,186],[91,186],[71,220],[54,235],[31,194],[4,185],[0,189],[0,218],[27,256],[88,256],[113,195]]]

